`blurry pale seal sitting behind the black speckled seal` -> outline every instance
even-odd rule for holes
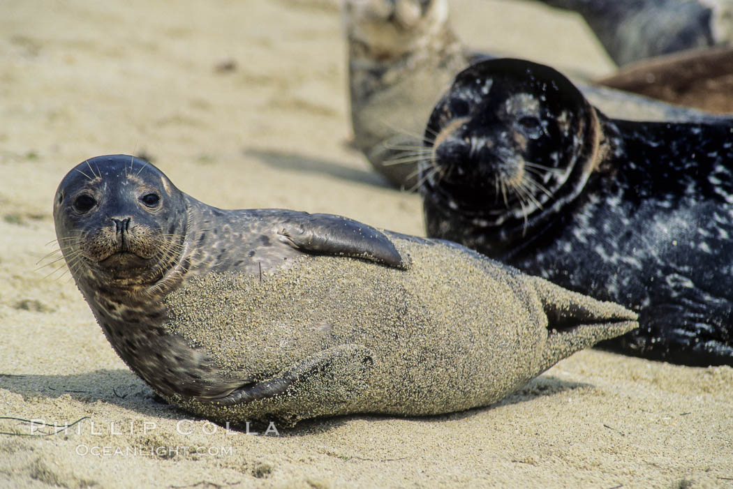
[[[346,0],[354,146],[375,170],[417,188],[422,133],[455,75],[492,56],[465,47],[449,23],[447,0]],[[710,115],[603,86],[579,84],[610,116],[697,121]]]

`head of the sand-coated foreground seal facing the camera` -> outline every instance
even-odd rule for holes
[[[142,160],[85,162],[67,174],[54,200],[56,233],[73,269],[120,285],[150,285],[180,255],[183,194]]]

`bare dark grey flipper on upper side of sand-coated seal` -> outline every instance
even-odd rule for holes
[[[408,263],[385,234],[347,217],[294,214],[281,225],[279,235],[284,242],[306,252],[365,258],[396,268],[408,268]]]

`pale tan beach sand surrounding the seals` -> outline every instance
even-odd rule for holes
[[[571,15],[513,1],[452,10],[477,48],[612,69]],[[583,351],[490,408],[251,426],[267,436],[157,402],[68,275],[36,270],[75,163],[144,152],[207,204],[410,234],[422,233],[419,198],[348,147],[335,0],[4,0],[1,14],[0,415],[84,418],[51,436],[0,419],[4,433],[34,435],[0,435],[1,487],[733,487],[730,367]]]

